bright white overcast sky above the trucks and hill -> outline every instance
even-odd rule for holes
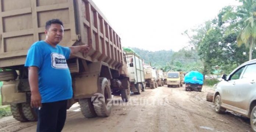
[[[213,19],[236,0],[93,0],[123,47],[178,51],[188,45],[185,30]]]

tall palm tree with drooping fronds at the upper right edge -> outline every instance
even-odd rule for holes
[[[256,41],[256,1],[240,0],[243,4],[237,7],[237,11],[229,11],[224,14],[223,21],[234,20],[228,28],[230,30],[239,29],[237,44],[245,44],[249,47],[249,60],[252,59],[252,50]]]

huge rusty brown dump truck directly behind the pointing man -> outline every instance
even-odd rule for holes
[[[111,113],[111,92],[128,101],[127,64],[121,38],[92,0],[1,0],[0,81],[2,104],[10,104],[13,117],[21,122],[36,121],[30,107],[28,69],[24,67],[29,47],[45,39],[45,22],[60,19],[64,38],[59,45],[88,45],[90,51],[67,60],[72,77],[73,98],[67,109],[79,102],[85,117],[107,117]],[[105,102],[93,105],[92,97]]]

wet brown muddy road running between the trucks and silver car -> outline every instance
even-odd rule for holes
[[[114,96],[110,117],[85,118],[79,104],[67,112],[63,132],[251,132],[249,119],[230,111],[214,112],[206,101],[208,88],[188,92],[184,88],[158,87],[131,95],[124,103]],[[0,119],[0,132],[35,132],[36,122]]]

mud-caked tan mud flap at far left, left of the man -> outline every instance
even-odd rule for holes
[[[19,80],[4,82],[1,88],[2,104],[25,103],[26,93],[17,92]]]

